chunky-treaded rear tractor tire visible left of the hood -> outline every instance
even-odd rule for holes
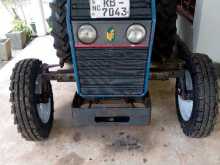
[[[53,0],[50,3],[52,14],[50,17],[52,24],[52,36],[54,37],[54,48],[60,64],[71,63],[71,52],[66,25],[66,3],[67,0]]]

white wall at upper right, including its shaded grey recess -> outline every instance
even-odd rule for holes
[[[220,62],[220,0],[197,0],[194,23],[177,21],[178,33],[193,52]]]

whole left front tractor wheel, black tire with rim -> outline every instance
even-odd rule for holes
[[[12,114],[18,132],[28,141],[42,141],[53,124],[53,93],[49,81],[39,83],[42,62],[26,59],[13,69],[10,84]],[[42,85],[41,92],[37,92]]]

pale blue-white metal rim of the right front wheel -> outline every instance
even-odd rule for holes
[[[189,71],[185,71],[185,83],[186,83],[185,84],[186,90],[193,90],[192,77]],[[181,91],[181,90],[182,89],[178,88],[178,91]],[[192,116],[194,101],[193,99],[192,100],[184,99],[181,96],[181,94],[178,94],[177,97],[178,97],[178,106],[179,106],[180,114],[184,121],[189,121]]]

